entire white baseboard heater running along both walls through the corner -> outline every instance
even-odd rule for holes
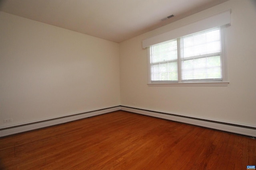
[[[53,119],[47,119],[47,120],[42,120],[42,121],[26,123],[26,124],[22,124],[22,125],[4,127],[4,128],[0,129],[0,137],[13,135],[16,133],[22,133],[22,132],[26,132],[26,131],[30,131],[30,130],[34,130],[34,129],[40,129],[40,128],[48,127],[48,126],[52,126],[52,125],[58,125],[58,124],[66,123],[69,121],[83,119],[86,117],[92,117],[95,115],[100,115],[100,114],[109,113],[109,112],[118,111],[118,110],[129,111],[132,113],[138,113],[138,114],[142,114],[142,115],[148,115],[148,116],[152,116],[152,117],[158,117],[158,118],[162,118],[162,119],[168,119],[168,120],[172,120],[172,121],[178,121],[178,122],[182,122],[182,123],[188,123],[188,124],[192,124],[192,125],[198,125],[198,126],[208,127],[208,128],[212,128],[212,129],[218,129],[221,131],[228,131],[228,132],[232,132],[232,133],[238,133],[241,135],[256,137],[256,127],[253,127],[253,126],[238,125],[238,124],[233,124],[233,123],[224,123],[224,122],[220,122],[220,121],[212,121],[212,120],[207,120],[207,119],[200,119],[200,118],[195,118],[195,117],[188,117],[188,116],[177,115],[177,114],[173,114],[173,113],[164,113],[164,112],[160,112],[160,111],[152,111],[152,110],[140,109],[140,108],[129,107],[129,106],[108,107],[108,108],[97,109],[97,110],[87,111],[87,112],[83,112],[83,113],[77,113],[77,114],[73,114],[73,115],[67,115],[67,116],[53,118]]]

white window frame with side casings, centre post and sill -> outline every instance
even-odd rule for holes
[[[221,34],[221,69],[222,69],[222,80],[181,80],[181,68],[178,64],[178,82],[168,82],[168,81],[151,81],[151,64],[150,64],[150,47],[148,47],[148,86],[228,86],[228,65],[227,65],[227,55],[226,55],[226,25],[220,27]],[[179,42],[178,42],[179,43]],[[179,48],[179,45],[178,45]],[[180,55],[178,55],[178,63],[180,63]]]

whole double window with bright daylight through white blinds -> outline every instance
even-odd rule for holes
[[[223,27],[149,47],[150,83],[224,82]]]

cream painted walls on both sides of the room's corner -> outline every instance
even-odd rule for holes
[[[228,86],[147,85],[143,39],[228,9]],[[0,128],[120,104],[256,127],[255,16],[230,0],[118,44],[0,12]]]

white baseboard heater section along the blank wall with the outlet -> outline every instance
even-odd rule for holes
[[[33,122],[33,123],[26,123],[26,124],[16,125],[16,126],[12,126],[12,127],[6,127],[6,128],[0,129],[0,137],[13,135],[16,133],[22,133],[22,132],[26,132],[26,131],[31,131],[31,130],[35,130],[35,129],[40,129],[43,127],[58,125],[58,124],[75,121],[75,120],[83,119],[86,117],[101,115],[104,113],[109,113],[109,112],[118,111],[118,110],[120,110],[120,106],[114,106],[114,107],[108,107],[108,108],[104,108],[104,109],[87,111],[84,113],[77,113],[74,115],[58,117],[58,118],[54,118],[54,119],[48,119],[48,120],[44,120],[44,121],[37,121],[37,122]]]

